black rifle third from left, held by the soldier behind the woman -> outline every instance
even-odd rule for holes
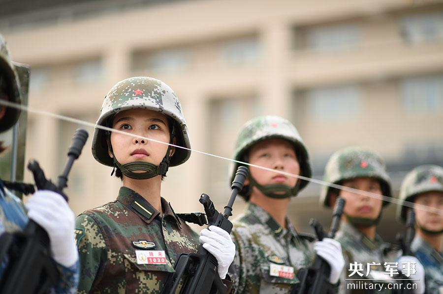
[[[334,238],[335,233],[339,229],[340,220],[345,206],[345,199],[338,198],[332,216],[331,230],[326,234],[321,224],[316,219],[311,219],[310,225],[316,231],[319,241],[323,238]],[[329,283],[329,274],[331,267],[321,257],[317,256],[311,267],[301,268],[297,272],[297,278],[300,281],[292,289],[292,294],[333,294],[333,286]]]

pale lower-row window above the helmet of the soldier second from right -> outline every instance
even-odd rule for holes
[[[361,111],[361,90],[356,85],[313,89],[307,98],[309,112],[318,120],[347,120]]]

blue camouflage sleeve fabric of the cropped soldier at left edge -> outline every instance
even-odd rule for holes
[[[3,186],[0,180],[0,234],[3,232],[13,233],[21,231],[28,223],[23,202]],[[2,261],[0,265],[0,277],[7,265],[7,260]],[[72,267],[63,267],[56,265],[60,273],[60,279],[50,293],[76,293],[79,280],[79,262]]]

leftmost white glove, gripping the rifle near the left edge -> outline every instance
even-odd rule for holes
[[[74,213],[62,195],[40,190],[26,203],[28,217],[48,233],[54,260],[63,267],[72,267],[78,260],[74,241]]]

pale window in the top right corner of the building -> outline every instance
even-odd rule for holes
[[[443,39],[443,13],[405,16],[400,20],[403,38],[411,44]]]

